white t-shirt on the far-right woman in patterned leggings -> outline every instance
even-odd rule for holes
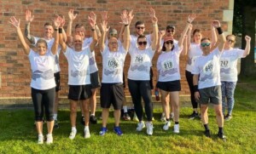
[[[220,57],[220,80],[225,82],[237,82],[237,60],[244,58],[244,50],[231,48],[224,50]]]

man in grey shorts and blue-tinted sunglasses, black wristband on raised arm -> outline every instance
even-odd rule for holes
[[[201,121],[206,129],[205,134],[211,137],[208,126],[208,102],[213,104],[218,123],[218,138],[226,140],[224,136],[224,116],[222,112],[221,88],[220,88],[220,55],[226,41],[218,20],[212,21],[212,26],[218,30],[218,47],[211,48],[211,41],[208,38],[201,39],[201,50],[203,54],[195,60],[193,69],[193,83],[195,88],[195,100],[201,104]],[[211,52],[212,51],[212,52]]]

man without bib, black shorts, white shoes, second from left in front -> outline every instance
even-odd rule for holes
[[[89,16],[89,23],[92,31],[92,43],[90,47],[83,48],[83,37],[75,35],[73,37],[73,48],[67,47],[67,44],[63,42],[60,32],[60,44],[61,50],[64,52],[68,61],[68,85],[69,93],[68,99],[70,100],[70,121],[72,130],[69,135],[69,139],[73,140],[77,134],[76,117],[77,117],[77,104],[82,102],[84,109],[84,138],[90,138],[89,130],[89,98],[91,96],[90,91],[90,54],[94,51],[97,43],[97,36],[95,31],[96,20]]]

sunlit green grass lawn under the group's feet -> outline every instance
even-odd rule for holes
[[[199,119],[189,120],[191,109],[181,108],[180,134],[172,128],[162,129],[160,109],[154,110],[154,134],[148,136],[146,129],[136,132],[136,122],[120,123],[124,135],[113,133],[113,116],[108,120],[108,133],[99,136],[99,124],[90,125],[90,139],[85,140],[83,127],[78,123],[78,134],[69,140],[71,127],[69,111],[59,111],[60,128],[54,130],[54,144],[38,145],[38,134],[33,127],[32,110],[0,111],[0,153],[256,153],[256,81],[243,81],[236,87],[236,105],[233,118],[224,123],[227,142],[218,140],[218,127],[212,107],[209,125],[212,139],[204,136]],[[100,111],[97,116],[99,117]],[[80,115],[80,113],[78,113]],[[110,115],[113,115],[112,113]],[[78,118],[79,120],[79,118]],[[46,124],[44,124],[46,134]]]

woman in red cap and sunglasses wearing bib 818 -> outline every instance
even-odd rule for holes
[[[164,106],[166,115],[166,124],[163,129],[168,130],[171,126],[170,121],[170,107],[169,94],[171,94],[171,104],[174,105],[174,133],[179,133],[179,96],[178,92],[181,90],[180,86],[180,71],[179,71],[179,57],[180,54],[186,54],[183,50],[184,36],[189,29],[190,23],[195,19],[195,14],[189,15],[187,24],[183,30],[181,37],[178,40],[177,46],[174,46],[172,37],[165,37],[161,54],[157,60],[158,83],[157,88],[160,88],[161,101]],[[163,35],[160,34],[159,44]],[[183,53],[184,51],[184,53]],[[156,89],[158,90],[158,89]]]

